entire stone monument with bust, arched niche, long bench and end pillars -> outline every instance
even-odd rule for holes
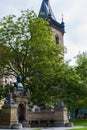
[[[67,108],[58,103],[54,109],[28,111],[30,92],[25,91],[22,77],[17,76],[14,91],[8,93],[0,111],[0,128],[68,126]],[[5,115],[5,116],[4,116]]]

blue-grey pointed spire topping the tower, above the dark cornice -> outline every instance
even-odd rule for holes
[[[40,18],[48,18],[49,16],[51,16],[52,19],[56,20],[54,14],[52,12],[49,0],[42,1],[42,5],[41,5],[38,16]]]

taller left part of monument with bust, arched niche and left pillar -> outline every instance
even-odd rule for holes
[[[22,128],[27,126],[27,105],[29,93],[25,92],[22,85],[22,77],[17,76],[14,83],[14,91],[9,91],[4,105],[0,110],[0,128]]]

